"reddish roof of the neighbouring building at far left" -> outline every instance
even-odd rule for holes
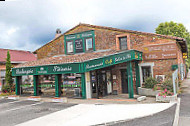
[[[22,63],[37,60],[36,56],[30,51],[0,49],[0,62],[6,62],[8,50],[11,56],[12,63]]]

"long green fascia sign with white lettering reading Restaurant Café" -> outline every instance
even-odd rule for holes
[[[120,52],[114,55],[108,55],[98,59],[88,60],[81,63],[13,68],[12,75],[22,76],[22,75],[84,73],[87,71],[101,69],[107,66],[124,63],[132,60],[142,60],[142,52],[136,50],[128,50],[125,52]]]

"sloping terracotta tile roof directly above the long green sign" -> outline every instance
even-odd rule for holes
[[[75,55],[58,55],[54,57],[43,58],[36,61],[19,64],[16,66],[16,68],[84,62],[84,61],[101,58],[108,55],[117,54],[119,52],[121,51],[101,50],[101,51],[95,51],[95,52],[90,52],[90,53],[80,53],[80,54],[75,54]]]

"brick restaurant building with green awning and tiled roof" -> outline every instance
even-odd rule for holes
[[[70,90],[82,98],[120,93],[133,98],[149,76],[164,78],[178,69],[183,80],[186,74],[183,38],[89,24],[56,33],[35,51],[37,61],[13,68],[17,95],[23,75],[34,76],[35,96],[45,91],[46,84],[56,97]]]

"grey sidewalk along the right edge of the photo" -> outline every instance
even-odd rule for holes
[[[179,126],[190,126],[190,72],[182,87]]]

